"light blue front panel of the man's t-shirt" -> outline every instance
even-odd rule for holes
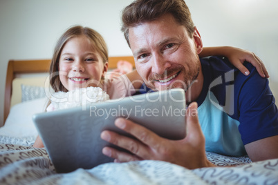
[[[206,139],[206,151],[232,156],[246,154],[238,129],[239,121],[223,111],[212,92],[207,93],[203,104],[198,106],[198,118]]]

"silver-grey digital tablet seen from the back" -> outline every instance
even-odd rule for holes
[[[116,146],[100,138],[102,130],[131,137],[114,125],[117,117],[130,119],[161,137],[183,139],[185,114],[185,91],[172,89],[39,113],[33,121],[57,173],[68,173],[113,162],[102,154],[102,148]]]

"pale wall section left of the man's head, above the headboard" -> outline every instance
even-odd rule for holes
[[[57,39],[79,24],[100,32],[109,55],[132,55],[120,31],[121,0],[0,0],[0,126],[6,68],[10,59],[50,59]]]

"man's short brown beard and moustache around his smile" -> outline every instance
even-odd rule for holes
[[[148,88],[151,88],[151,90],[157,91],[157,90],[169,90],[172,88],[183,88],[185,91],[187,91],[194,82],[196,82],[198,74],[200,72],[200,66],[196,66],[195,70],[189,70],[189,72],[186,73],[185,68],[183,66],[178,66],[176,68],[171,68],[169,70],[165,70],[165,72],[162,75],[153,74],[149,77],[147,83],[145,81],[145,84]],[[160,86],[156,87],[155,83],[157,79],[165,79],[165,77],[169,77],[172,75],[178,74],[183,75],[183,81],[181,80],[175,80],[174,83],[170,84],[169,86]]]

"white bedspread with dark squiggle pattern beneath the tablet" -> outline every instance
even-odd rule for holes
[[[46,150],[31,147],[28,139],[0,137],[0,184],[278,184],[278,159],[252,163],[215,153],[207,158],[219,167],[188,170],[145,160],[56,173]]]

